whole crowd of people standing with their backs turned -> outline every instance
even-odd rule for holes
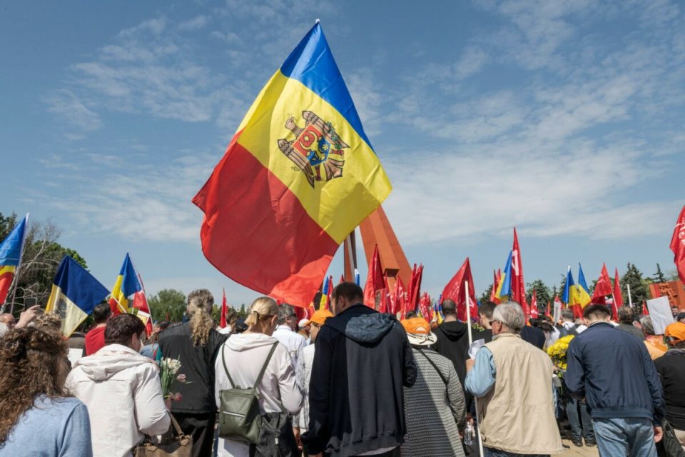
[[[482,303],[471,331],[451,300],[439,325],[362,303],[343,282],[308,319],[260,297],[244,321],[231,313],[217,328],[200,289],[183,323],[158,322],[147,338],[137,316],[106,303],[68,340],[38,306],[16,322],[0,315],[0,456],[128,457],[143,441],[163,448],[174,422],[193,457],[461,457],[479,441],[485,456],[547,456],[562,436],[601,456],[676,455],[668,438],[685,450],[677,310],[656,334],[629,307],[619,322],[599,304],[554,322]],[[555,366],[545,350],[564,337],[567,366]],[[73,363],[70,348],[83,351]],[[163,358],[181,365],[173,395]]]

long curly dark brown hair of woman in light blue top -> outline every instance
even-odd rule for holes
[[[5,333],[0,343],[0,444],[36,396],[66,396],[66,342],[55,332],[35,327]]]

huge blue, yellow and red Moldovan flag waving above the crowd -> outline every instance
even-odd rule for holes
[[[205,257],[307,306],[333,254],[390,194],[319,24],[262,89],[193,199]]]

